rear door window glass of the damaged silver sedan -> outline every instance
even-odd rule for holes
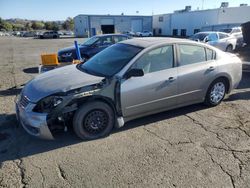
[[[206,61],[205,48],[200,46],[181,44],[179,45],[179,55],[179,66]]]

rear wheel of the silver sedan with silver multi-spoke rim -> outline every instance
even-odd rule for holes
[[[208,88],[204,103],[207,106],[213,107],[221,103],[228,89],[225,79],[215,80]]]

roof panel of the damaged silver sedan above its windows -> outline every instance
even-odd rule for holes
[[[172,43],[181,43],[188,42],[190,44],[197,44],[195,41],[191,41],[188,39],[178,39],[171,37],[147,37],[147,38],[133,38],[129,40],[124,40],[120,43],[129,44],[133,46],[138,46],[142,48],[148,48],[150,46],[158,45],[158,44],[172,44]]]

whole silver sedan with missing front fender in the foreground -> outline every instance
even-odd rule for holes
[[[216,106],[241,76],[238,57],[209,45],[131,39],[84,64],[37,76],[22,90],[16,112],[33,136],[52,139],[73,120],[80,138],[96,139],[138,117],[202,102]]]

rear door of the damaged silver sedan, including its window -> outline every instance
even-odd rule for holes
[[[202,101],[216,74],[215,52],[198,45],[178,45],[177,104]]]

